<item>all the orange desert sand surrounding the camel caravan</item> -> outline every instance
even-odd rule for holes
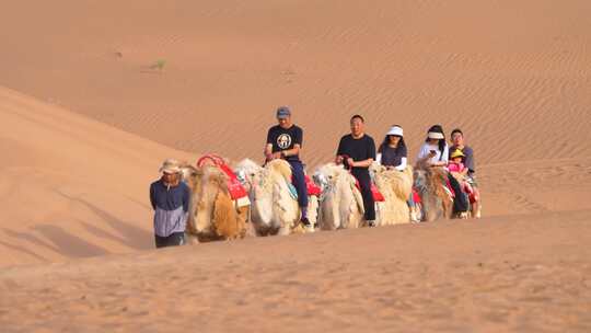
[[[18,1],[0,11],[0,326],[591,331],[591,2]],[[461,127],[480,220],[153,250],[167,157],[309,170],[355,113]]]

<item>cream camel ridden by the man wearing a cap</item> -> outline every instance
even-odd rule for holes
[[[269,161],[259,166],[245,159],[235,165],[251,199],[251,221],[258,236],[311,232],[313,228],[300,226],[300,208],[291,186],[291,166],[283,160]],[[308,218],[316,221],[317,198],[309,197]]]

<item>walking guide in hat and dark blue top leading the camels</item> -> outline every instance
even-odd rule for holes
[[[162,177],[150,185],[150,203],[154,209],[155,246],[183,245],[190,192],[188,186],[181,182],[178,161],[165,160],[160,172]]]

